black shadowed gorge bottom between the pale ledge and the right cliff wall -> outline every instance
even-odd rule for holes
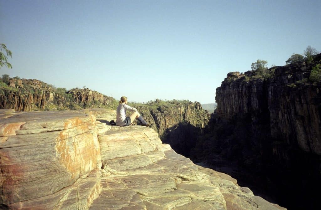
[[[272,203],[289,210],[318,209],[318,194],[313,193],[321,187],[317,155],[273,145],[269,126],[256,122],[253,129],[252,123],[250,118],[228,122],[213,115],[202,130],[180,123],[162,140],[194,163],[231,175],[240,186]],[[277,149],[283,156],[273,155]]]

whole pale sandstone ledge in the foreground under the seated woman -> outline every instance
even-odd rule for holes
[[[285,209],[115,115],[0,110],[0,209]]]

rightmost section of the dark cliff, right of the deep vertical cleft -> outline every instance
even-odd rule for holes
[[[289,85],[304,80],[310,71],[311,66],[275,70],[268,88],[271,135],[321,155],[321,84]]]

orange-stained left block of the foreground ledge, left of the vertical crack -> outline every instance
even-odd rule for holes
[[[101,158],[97,135],[92,135],[96,132],[94,115],[73,111],[1,113],[3,205],[53,209],[71,202],[67,194],[74,194],[76,200],[77,191],[83,190],[86,196],[82,199],[89,199],[99,191]],[[82,187],[87,181],[88,189]]]

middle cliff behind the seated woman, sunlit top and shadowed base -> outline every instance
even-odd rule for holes
[[[160,101],[147,105],[133,105],[156,130],[160,139],[179,154],[189,156],[209,119],[210,113],[199,102]],[[135,122],[134,122],[135,123]]]

